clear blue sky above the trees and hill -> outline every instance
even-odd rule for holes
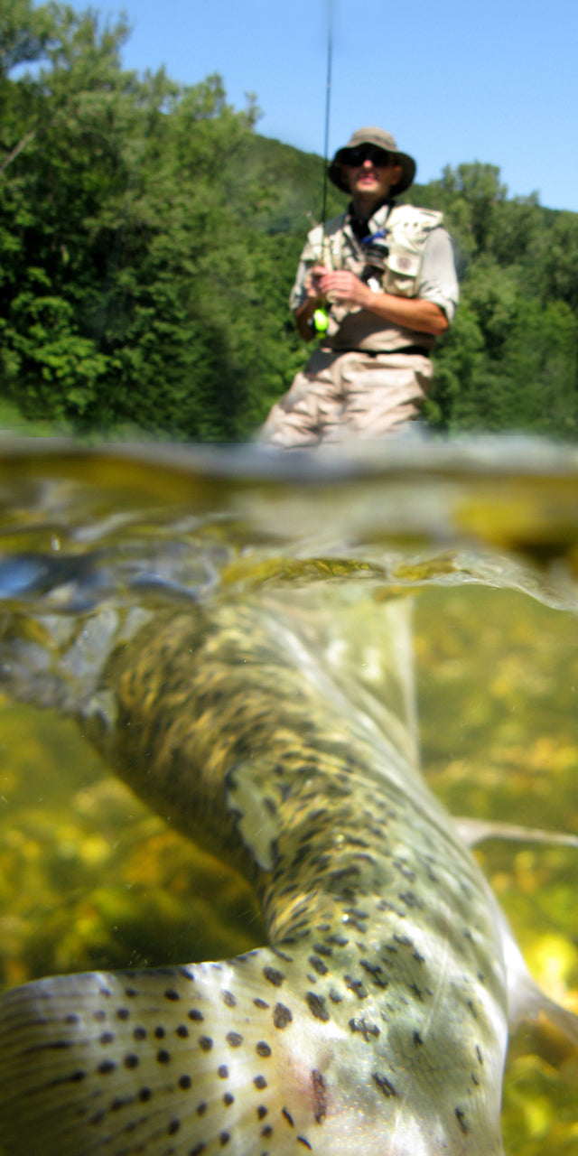
[[[75,7],[84,3],[75,0]],[[121,3],[94,3],[113,17]],[[323,153],[328,0],[125,0],[127,68],[183,83],[222,74],[258,132]],[[420,180],[483,161],[510,195],[578,212],[576,0],[333,0],[329,151],[377,124]]]

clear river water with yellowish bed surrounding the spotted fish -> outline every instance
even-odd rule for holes
[[[281,606],[310,593],[329,617],[361,605],[368,665],[376,608],[412,595],[438,796],[453,814],[578,832],[577,451],[6,439],[0,505],[3,654],[106,605],[154,612],[262,587]],[[0,990],[262,943],[244,882],[38,705],[39,683],[32,697],[0,698]],[[578,1011],[578,851],[492,839],[476,853],[534,976]],[[560,1038],[527,1028],[512,1040],[503,1127],[509,1156],[577,1156],[578,1058]]]

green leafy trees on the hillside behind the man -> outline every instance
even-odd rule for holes
[[[0,0],[2,400],[79,430],[247,437],[310,351],[287,299],[323,162],[260,136],[218,76],[123,71],[126,36]],[[444,212],[462,284],[430,422],[578,436],[578,214],[481,163],[407,199]]]

